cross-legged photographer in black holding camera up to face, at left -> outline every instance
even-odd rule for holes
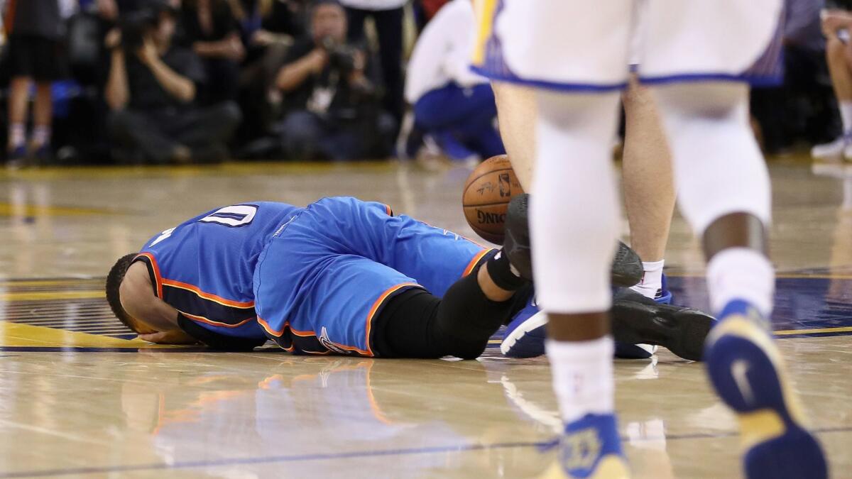
[[[114,152],[131,163],[211,163],[227,158],[227,141],[240,120],[232,102],[193,105],[204,67],[192,50],[172,44],[176,10],[151,0],[121,13],[107,35],[112,64],[106,99]]]

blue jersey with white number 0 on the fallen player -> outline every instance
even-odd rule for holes
[[[148,240],[136,261],[147,264],[157,297],[200,326],[263,338],[252,289],[257,257],[300,211],[262,201],[208,211]]]

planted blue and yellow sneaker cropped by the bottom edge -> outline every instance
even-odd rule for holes
[[[559,438],[559,458],[541,476],[546,479],[587,477],[626,479],[627,459],[614,414],[586,414],[565,425]]]

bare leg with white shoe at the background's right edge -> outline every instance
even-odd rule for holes
[[[843,133],[837,140],[816,145],[811,150],[814,158],[839,159],[852,141],[852,66],[849,64],[849,48],[849,44],[838,38],[836,33],[826,38],[826,60],[834,95],[838,99]]]

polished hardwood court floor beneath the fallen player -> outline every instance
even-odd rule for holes
[[[472,235],[458,205],[466,175],[395,164],[0,172],[0,478],[534,476],[559,428],[542,358],[156,347],[102,299],[115,258],[215,206],[347,194]],[[773,164],[772,176],[773,326],[832,476],[852,477],[852,166]],[[679,217],[667,265],[676,302],[705,307]],[[615,372],[636,477],[740,475],[734,418],[699,364],[662,351]]]

